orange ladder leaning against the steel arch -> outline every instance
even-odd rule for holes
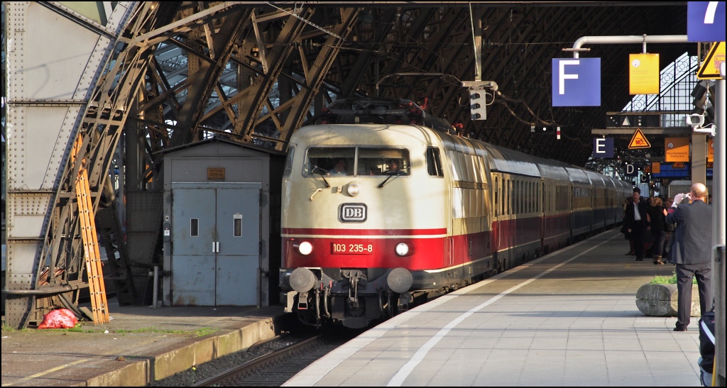
[[[79,134],[73,144],[71,163],[76,162],[76,157],[81,153],[82,144],[83,138]],[[81,162],[81,169],[79,169],[79,174],[76,177],[76,199],[79,203],[81,237],[84,241],[84,259],[86,260],[86,270],[89,278],[93,323],[100,324],[109,322],[110,319],[108,316],[108,302],[106,301],[106,286],[103,283],[103,268],[98,248],[96,221],[91,203],[91,188],[89,187],[88,171],[85,163],[86,161]]]

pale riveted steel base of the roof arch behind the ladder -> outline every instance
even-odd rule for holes
[[[69,147],[83,132],[84,116],[98,108],[94,92],[104,78],[103,65],[113,57],[116,36],[137,4],[121,1],[115,7],[88,9],[82,4],[15,2],[6,7],[7,39],[12,41],[7,62],[6,312],[9,326],[23,327],[60,303],[58,295],[83,288],[78,214],[69,178],[81,161],[69,163]],[[121,102],[113,110],[123,106]],[[97,198],[105,177],[99,171],[100,155],[113,145],[92,138],[87,136],[84,146]],[[67,296],[60,299],[68,301]]]

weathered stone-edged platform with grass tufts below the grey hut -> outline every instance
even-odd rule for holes
[[[2,331],[3,387],[136,386],[276,336],[283,307],[119,307],[111,322]],[[279,334],[279,333],[278,333]]]

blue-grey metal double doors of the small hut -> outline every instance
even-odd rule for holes
[[[260,189],[172,189],[172,304],[256,305]]]

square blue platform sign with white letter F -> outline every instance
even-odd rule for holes
[[[601,106],[601,58],[553,58],[553,106]]]

